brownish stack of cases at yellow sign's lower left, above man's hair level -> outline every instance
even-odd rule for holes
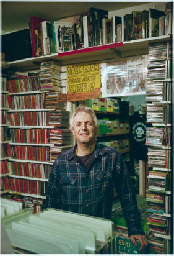
[[[49,92],[45,95],[45,109],[66,109],[67,94],[58,91]]]

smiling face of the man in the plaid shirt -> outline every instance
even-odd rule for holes
[[[74,117],[72,132],[77,144],[94,144],[97,133],[94,118],[86,112],[77,113]]]

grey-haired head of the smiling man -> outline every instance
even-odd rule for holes
[[[70,129],[78,143],[92,144],[98,134],[98,120],[90,107],[79,106],[70,119]]]

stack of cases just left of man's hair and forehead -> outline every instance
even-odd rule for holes
[[[48,126],[69,128],[69,111],[56,110],[48,113]]]

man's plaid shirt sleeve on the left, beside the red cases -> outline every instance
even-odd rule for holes
[[[61,190],[58,178],[58,160],[53,163],[53,167],[50,170],[46,189],[45,208],[61,209]]]

